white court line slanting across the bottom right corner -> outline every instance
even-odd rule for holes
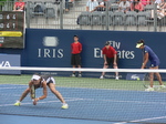
[[[158,116],[158,117],[151,117],[151,118],[142,118],[142,120],[127,121],[127,122],[120,122],[120,123],[114,123],[114,124],[141,123],[141,122],[144,122],[144,121],[160,120],[160,118],[166,118],[166,116]]]

